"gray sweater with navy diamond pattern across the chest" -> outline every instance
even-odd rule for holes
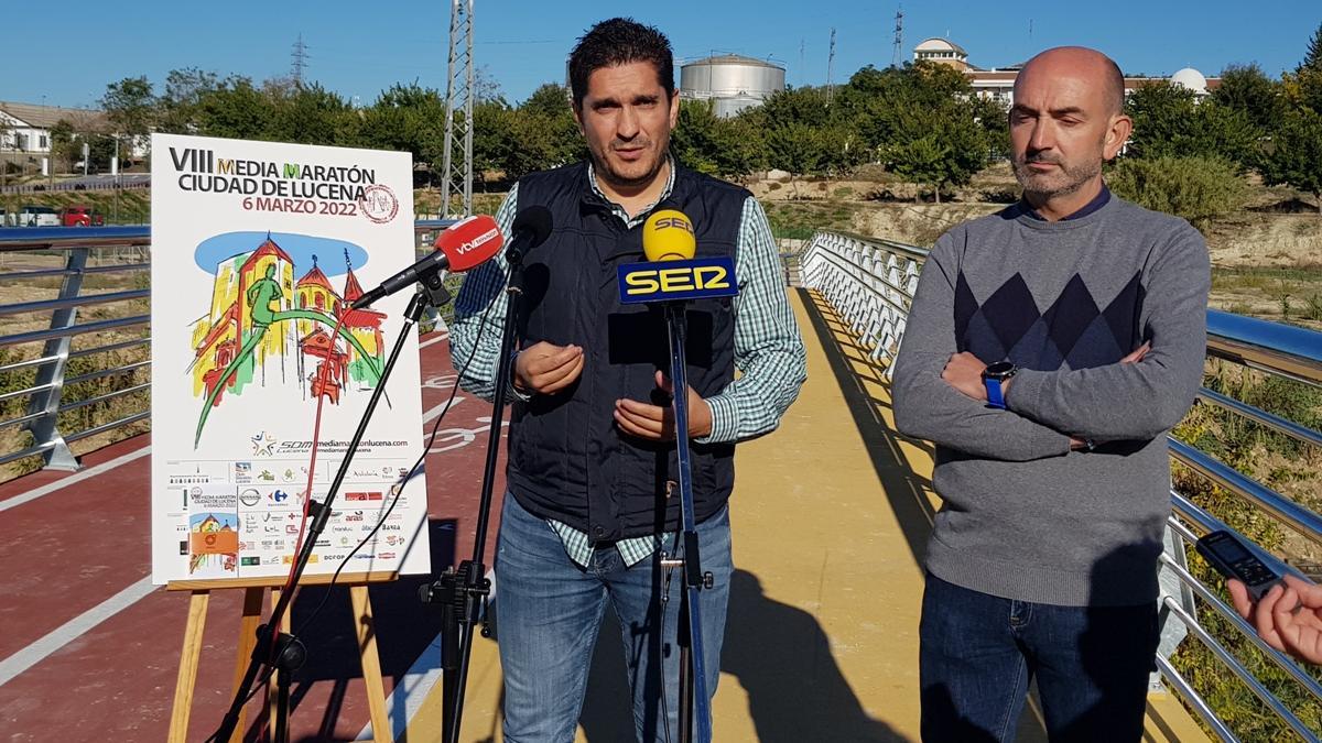
[[[936,444],[933,575],[1058,606],[1155,599],[1166,432],[1202,379],[1208,284],[1196,230],[1118,197],[1059,222],[1013,206],[937,239],[894,374],[896,426]],[[1118,362],[1144,341],[1146,358]],[[1021,368],[1009,410],[941,379],[965,350]]]

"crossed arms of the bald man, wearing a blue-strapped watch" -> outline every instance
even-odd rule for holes
[[[956,238],[933,247],[895,362],[895,422],[910,436],[973,456],[1026,461],[1097,442],[1153,439],[1188,410],[1206,353],[1207,251],[1192,229],[1158,251],[1150,268],[1147,342],[1080,370],[1021,370],[1009,410],[985,405],[986,362],[956,348]]]

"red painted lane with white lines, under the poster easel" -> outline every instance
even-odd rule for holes
[[[453,379],[447,344],[422,350],[423,410],[442,405]],[[434,557],[471,557],[486,431],[480,420],[490,405],[460,391],[465,398],[442,422],[442,434],[427,457],[428,513],[436,529]],[[427,424],[430,431],[432,420]],[[471,443],[449,451],[464,438]],[[94,465],[140,446],[145,436],[107,447],[85,457]],[[28,571],[8,571],[0,586],[9,600],[0,607],[7,628],[21,628],[15,639],[0,635],[0,657],[30,643],[67,619],[145,576],[149,570],[148,459],[50,493],[5,513],[0,525],[0,559],[25,557],[33,546],[56,550],[45,559],[28,558]],[[498,471],[504,471],[504,456]],[[26,492],[66,475],[36,473],[0,489],[0,498]],[[501,477],[502,480],[502,477]],[[486,563],[494,547],[501,483],[497,484],[488,539]],[[443,529],[452,522],[451,530]],[[447,547],[452,535],[453,547]],[[9,553],[5,550],[16,550]],[[438,554],[440,553],[440,554]],[[70,568],[70,565],[87,565]],[[434,563],[435,570],[444,566]],[[26,574],[25,574],[26,572]],[[83,574],[86,572],[86,575]],[[371,588],[379,629],[382,665],[387,676],[401,677],[436,632],[436,615],[416,602],[422,578]],[[321,596],[309,588],[295,604],[297,625]],[[292,734],[312,739],[352,739],[366,724],[366,701],[357,668],[348,596],[333,596],[328,608],[303,639],[312,662],[305,681],[296,685],[297,702]],[[9,684],[0,686],[0,710],[15,740],[102,740],[111,736],[156,740],[165,735],[169,706],[178,669],[180,645],[186,619],[188,594],[159,590],[128,609],[70,643]],[[238,591],[212,596],[204,637],[204,666],[189,739],[205,738],[229,702],[234,673],[234,648],[241,612]],[[332,723],[325,722],[329,717]],[[251,719],[251,718],[250,718]]]

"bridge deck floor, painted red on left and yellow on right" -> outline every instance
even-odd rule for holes
[[[936,497],[931,452],[894,432],[879,370],[832,309],[806,292],[795,311],[809,381],[783,427],[744,444],[732,501],[730,627],[715,699],[718,740],[916,740],[919,555]],[[424,340],[432,415],[452,379],[440,336]],[[442,390],[447,386],[447,390]],[[465,397],[461,394],[461,397]],[[434,563],[472,545],[489,409],[465,399],[428,456]],[[476,440],[475,440],[476,438]],[[147,438],[90,455],[78,475],[0,485],[0,715],[12,740],[160,740],[169,719],[186,598],[148,575]],[[398,732],[439,739],[435,616],[420,580],[371,590]],[[498,590],[498,586],[497,586]],[[233,595],[225,595],[233,594]],[[295,611],[320,600],[305,591]],[[348,598],[305,637],[293,738],[345,740],[366,724]],[[231,684],[238,592],[213,600],[189,740],[219,719]],[[616,632],[607,627],[605,633]],[[619,645],[604,641],[580,739],[632,735]],[[464,740],[498,739],[496,645],[479,640]],[[1149,701],[1147,740],[1204,740],[1179,702]],[[1030,706],[1021,740],[1043,740]]]

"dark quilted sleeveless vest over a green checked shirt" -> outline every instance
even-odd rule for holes
[[[693,221],[698,255],[734,258],[748,192],[677,168],[657,209]],[[579,381],[553,395],[514,403],[509,488],[529,512],[608,542],[673,530],[680,522],[674,444],[621,434],[615,401],[656,398],[657,369],[669,375],[666,327],[654,305],[621,305],[616,267],[644,260],[642,226],[625,229],[594,193],[586,163],[533,173],[518,184],[518,206],[551,210],[550,238],[525,259],[518,345],[538,341],[584,349]],[[728,299],[687,308],[689,385],[710,397],[734,379],[734,312]],[[734,444],[693,444],[694,516],[703,521],[730,498]],[[669,493],[669,494],[668,494]]]

